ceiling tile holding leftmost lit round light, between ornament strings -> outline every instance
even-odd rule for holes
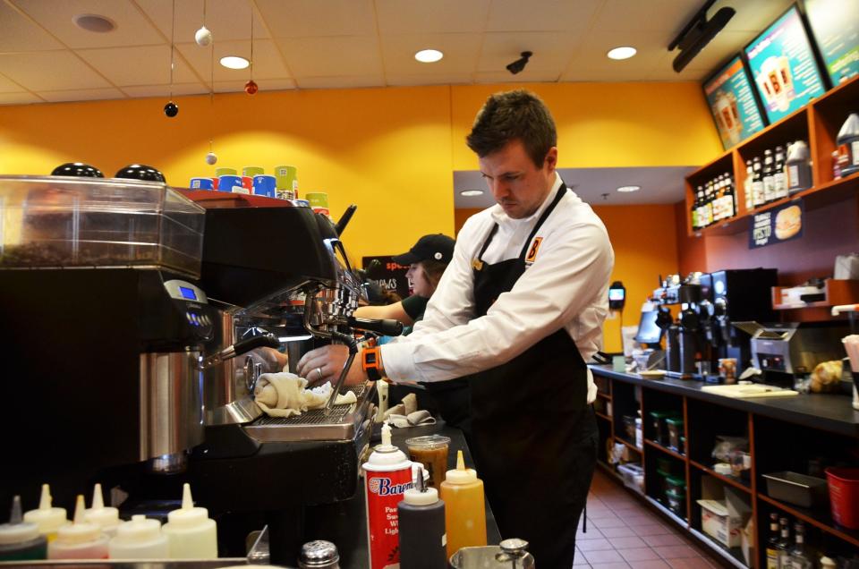
[[[203,81],[211,77],[212,47],[200,47],[197,44],[181,44],[177,46],[183,57],[200,74]],[[240,55],[251,59],[251,42],[222,41],[215,42],[215,81],[244,81],[251,79],[251,70],[227,69],[221,65],[220,59],[225,55]],[[253,42],[253,78],[254,79],[285,79],[291,73],[284,64],[284,58],[275,42],[271,39],[255,39]]]

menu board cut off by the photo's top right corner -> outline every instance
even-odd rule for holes
[[[805,0],[805,13],[832,84],[859,75],[859,2]]]

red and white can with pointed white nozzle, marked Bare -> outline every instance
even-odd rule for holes
[[[391,427],[382,425],[382,444],[377,446],[364,469],[367,500],[367,542],[370,569],[399,563],[397,504],[406,489],[412,488],[412,462],[391,444]]]

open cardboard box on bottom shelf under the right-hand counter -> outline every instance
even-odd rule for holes
[[[743,527],[752,516],[752,508],[736,490],[723,486],[711,476],[702,477],[702,531],[727,548],[737,548],[743,542]]]

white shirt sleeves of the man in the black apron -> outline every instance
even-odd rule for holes
[[[593,304],[614,266],[603,225],[558,225],[513,289],[499,295],[485,316],[473,318],[472,255],[457,242],[421,326],[404,342],[382,346],[387,377],[442,381],[506,363]]]

